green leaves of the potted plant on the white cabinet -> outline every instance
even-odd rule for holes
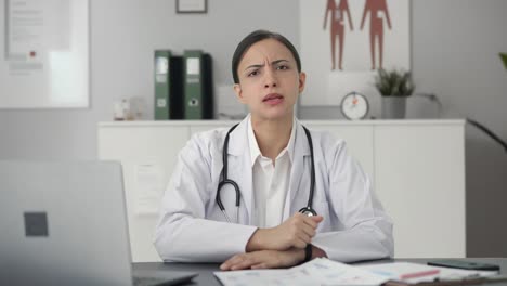
[[[410,96],[415,90],[410,72],[378,69],[375,87],[382,96]]]

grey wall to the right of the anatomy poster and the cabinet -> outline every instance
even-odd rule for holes
[[[507,1],[413,2],[413,67],[452,117],[471,117],[507,141]],[[507,151],[466,130],[468,255],[507,256]],[[428,209],[430,211],[430,208]]]

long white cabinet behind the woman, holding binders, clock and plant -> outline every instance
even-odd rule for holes
[[[233,123],[99,123],[99,158],[119,160],[123,166],[134,262],[160,261],[153,247],[158,209],[144,204],[146,194],[152,203],[153,196],[159,203],[178,152],[193,133]],[[346,140],[350,153],[369,173],[394,221],[396,258],[466,256],[464,120],[303,123]],[[151,178],[154,182],[150,182]]]

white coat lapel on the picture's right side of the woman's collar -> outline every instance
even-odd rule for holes
[[[304,193],[300,190],[301,177],[303,172],[310,172],[310,169],[306,168],[304,166],[304,162],[311,159],[307,134],[304,133],[302,125],[298,120],[295,120],[295,122],[297,128],[295,134],[296,140],[294,146],[292,169],[290,171],[290,183],[287,197],[285,198],[284,221],[294,214],[291,208],[296,195],[298,193]],[[302,207],[306,206],[300,206],[299,208]],[[295,211],[298,211],[299,208]]]

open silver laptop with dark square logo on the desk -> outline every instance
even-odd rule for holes
[[[191,282],[196,273],[132,276],[123,194],[119,162],[0,161],[0,285]]]

